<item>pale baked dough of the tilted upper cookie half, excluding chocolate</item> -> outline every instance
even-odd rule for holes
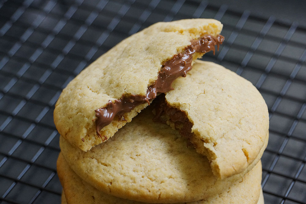
[[[58,132],[72,145],[88,151],[114,135],[148,104],[141,104],[114,119],[96,134],[95,110],[123,95],[145,96],[166,60],[190,46],[192,39],[216,36],[222,24],[213,19],[160,22],[126,38],[74,78],[54,109]],[[202,54],[196,53],[193,58]]]

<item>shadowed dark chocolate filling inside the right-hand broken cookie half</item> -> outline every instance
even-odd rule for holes
[[[190,142],[190,139],[193,137],[193,133],[191,132],[192,123],[189,121],[184,111],[168,106],[165,100],[165,94],[159,95],[154,100],[154,110],[154,122],[162,122],[165,124],[167,121],[172,122],[174,128],[179,130],[180,135],[188,139],[187,146],[194,146]]]

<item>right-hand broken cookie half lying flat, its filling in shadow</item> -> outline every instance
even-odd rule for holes
[[[196,60],[187,75],[155,100],[155,120],[179,129],[220,178],[252,169],[268,142],[269,114],[259,91],[212,62]]]

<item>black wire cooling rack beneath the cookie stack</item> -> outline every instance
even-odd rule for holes
[[[269,108],[266,203],[306,203],[306,28],[226,5],[171,0],[0,0],[0,202],[60,203],[53,123],[61,90],[127,36],[158,22],[215,18],[214,61],[251,81]]]

